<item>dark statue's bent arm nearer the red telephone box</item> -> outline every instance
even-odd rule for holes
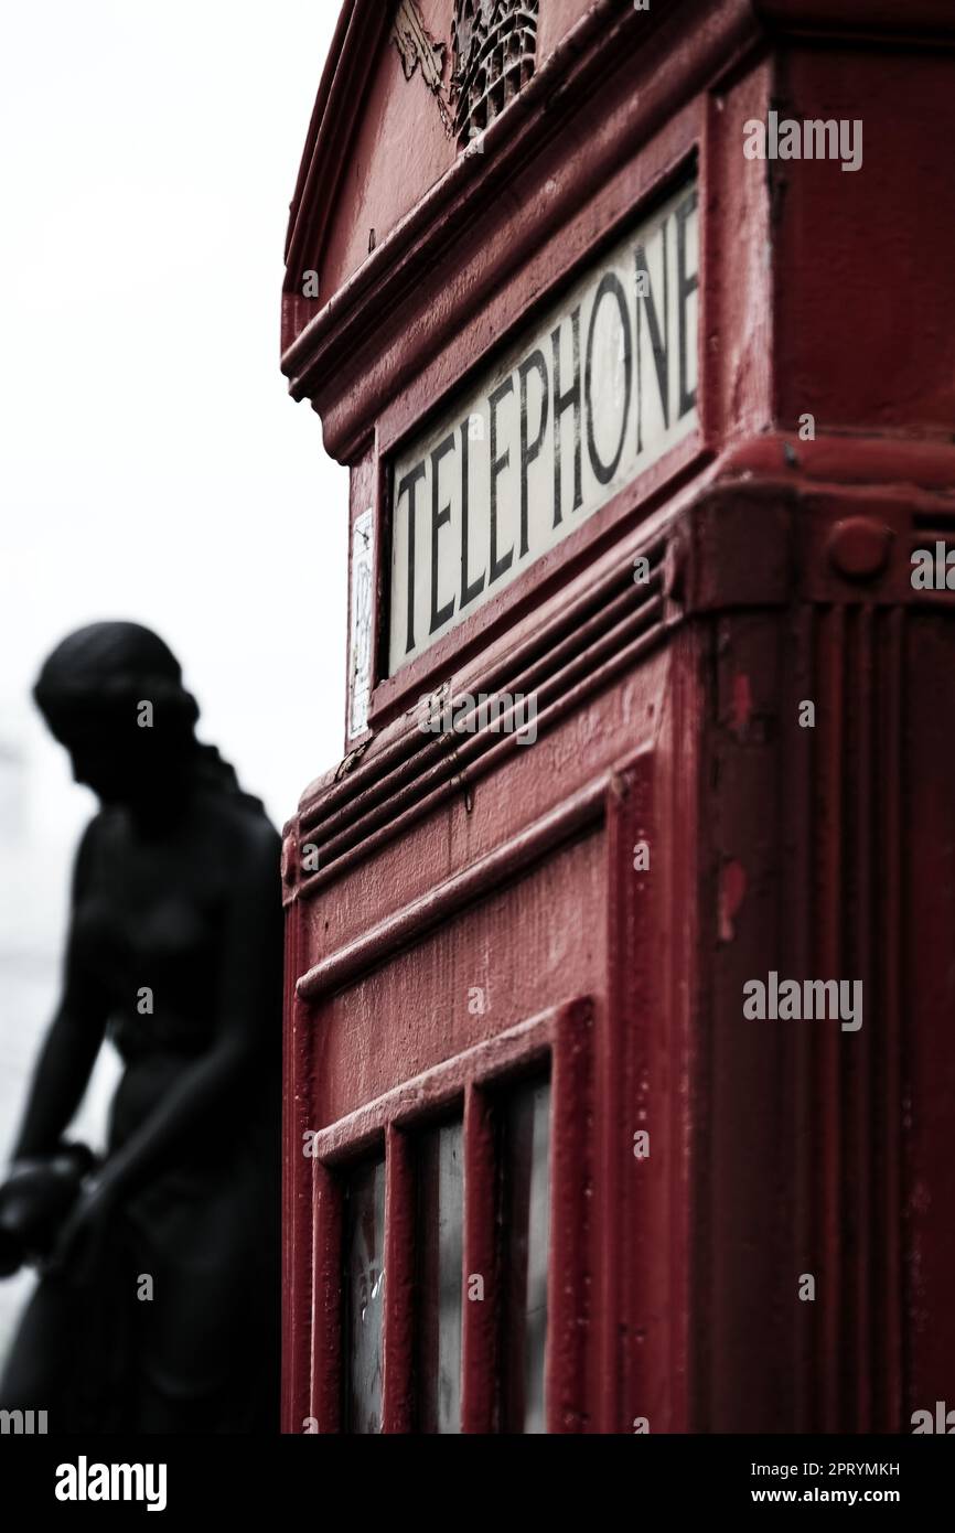
[[[218,963],[213,1046],[106,1162],[100,1187],[110,1197],[126,1197],[175,1162],[190,1133],[212,1116],[219,1118],[248,1084],[268,1047],[282,983],[279,852],[279,837],[267,822],[236,851]]]

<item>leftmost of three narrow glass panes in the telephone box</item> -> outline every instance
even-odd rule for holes
[[[385,1162],[348,1177],[345,1191],[345,1432],[382,1430]]]

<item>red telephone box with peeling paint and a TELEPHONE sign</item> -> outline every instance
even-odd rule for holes
[[[941,0],[342,9],[282,331],[351,469],[287,1432],[955,1403],[953,44]]]

